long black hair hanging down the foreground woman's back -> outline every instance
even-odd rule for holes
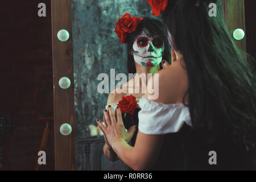
[[[217,3],[217,16],[211,17],[208,5],[212,2]],[[228,133],[234,143],[247,150],[253,148],[254,60],[249,61],[235,46],[225,27],[221,3],[168,0],[162,18],[187,67],[192,129],[204,129],[215,136],[220,131]]]

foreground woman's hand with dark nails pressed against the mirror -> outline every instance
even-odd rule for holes
[[[115,114],[112,107],[108,107],[108,110],[104,110],[104,123],[105,126],[101,123],[100,119],[97,119],[98,126],[104,133],[105,141],[110,146],[114,144],[125,141],[126,143],[130,142],[131,138],[135,133],[135,126],[130,127],[128,131],[125,130],[123,125],[122,114],[120,109],[117,107],[115,109]]]

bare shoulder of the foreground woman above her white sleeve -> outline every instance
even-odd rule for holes
[[[154,90],[154,93],[152,93],[152,90]],[[170,67],[155,73],[148,80],[145,97],[148,100],[164,104],[177,104],[183,102],[183,97],[187,93],[187,90],[188,76],[186,68],[184,64],[181,64],[181,61],[176,61]],[[185,102],[188,102],[187,95]]]

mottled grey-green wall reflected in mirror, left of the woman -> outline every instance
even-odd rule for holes
[[[89,135],[87,126],[102,118],[108,99],[108,94],[97,92],[101,82],[97,76],[110,77],[110,68],[115,68],[115,75],[127,73],[126,46],[114,33],[115,22],[125,13],[151,16],[151,7],[146,0],[73,0],[72,6],[76,139],[80,141]],[[77,169],[85,169],[84,164],[84,147],[77,145]]]

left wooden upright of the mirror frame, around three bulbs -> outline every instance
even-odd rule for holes
[[[53,99],[55,126],[55,170],[75,170],[75,105],[73,78],[73,39],[72,39],[72,0],[51,0],[52,7],[52,64],[53,64]],[[65,29],[69,39],[61,42],[57,32]],[[71,86],[62,89],[61,77],[68,77]],[[60,126],[69,123],[72,133],[64,136]]]

